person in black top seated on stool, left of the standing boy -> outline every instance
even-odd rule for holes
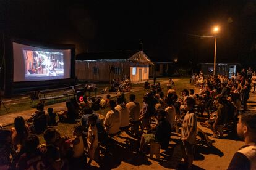
[[[151,142],[159,142],[161,148],[167,149],[169,146],[169,140],[171,136],[171,125],[165,118],[166,111],[159,109],[156,111],[156,119],[158,124],[151,128],[150,134],[143,134],[140,139],[139,152],[143,152],[145,145]]]

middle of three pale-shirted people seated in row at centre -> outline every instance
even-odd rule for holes
[[[120,112],[120,117],[121,117],[121,124],[120,124],[120,129],[125,130],[127,127],[129,127],[129,112],[124,104],[124,98],[120,95],[116,99],[117,106],[115,107],[116,110]]]

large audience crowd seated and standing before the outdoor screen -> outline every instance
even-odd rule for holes
[[[229,169],[253,169],[256,114],[247,113],[247,100],[251,82],[256,81],[254,76],[255,73],[250,76],[241,72],[229,79],[223,75],[205,78],[201,74],[191,81],[200,87],[200,92],[195,94],[194,89],[184,89],[179,95],[172,79],[166,84],[167,92],[160,83],[150,86],[146,81],[142,105],[134,94],[129,95],[129,102],[124,94],[116,100],[107,95],[97,104],[86,97],[77,103],[74,98],[66,102],[67,110],[61,113],[54,113],[53,108],[45,111],[43,104],[38,104],[30,125],[19,116],[14,120],[14,127],[0,130],[0,169],[85,169],[93,160],[101,165],[100,145],[109,147],[112,137],[120,132],[137,138],[138,154],[146,153],[147,146],[153,144],[168,150],[171,134],[180,134],[186,168],[192,169],[197,136],[200,144],[213,143],[197,126],[200,116],[207,118],[201,124],[210,128],[215,138],[223,137],[224,126],[236,135],[234,127],[238,122],[237,135],[246,145],[234,155]],[[102,118],[96,108],[106,107],[109,111]],[[57,118],[64,123],[74,123],[73,137],[59,134],[54,128]],[[43,134],[44,144],[39,144],[37,134]]]

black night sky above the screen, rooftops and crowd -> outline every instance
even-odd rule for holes
[[[18,38],[75,44],[77,54],[140,49],[153,60],[254,61],[256,1],[0,0],[0,30]]]

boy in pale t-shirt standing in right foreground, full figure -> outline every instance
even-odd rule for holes
[[[188,169],[192,169],[197,136],[197,117],[194,113],[194,106],[195,100],[187,97],[184,103],[187,113],[182,122],[181,140],[184,148],[184,160]]]

